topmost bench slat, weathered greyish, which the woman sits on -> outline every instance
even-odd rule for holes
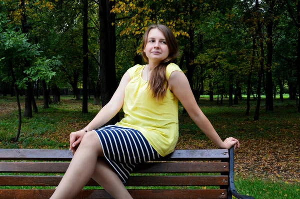
[[[55,149],[0,149],[0,160],[52,160],[69,161],[72,153]],[[227,149],[175,150],[168,160],[221,160],[228,159]]]

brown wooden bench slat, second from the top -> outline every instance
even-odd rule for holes
[[[3,173],[65,173],[69,163],[0,162]],[[228,172],[228,163],[145,163],[133,173],[213,173]]]

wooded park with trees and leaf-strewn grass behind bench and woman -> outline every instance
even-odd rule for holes
[[[69,133],[143,64],[152,23],[176,36],[176,64],[220,137],[240,140],[237,190],[298,199],[298,0],[2,0],[0,148],[68,149]],[[181,105],[179,134],[177,149],[215,148]]]

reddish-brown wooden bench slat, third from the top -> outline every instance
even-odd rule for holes
[[[62,176],[0,176],[0,186],[58,186]],[[125,186],[224,186],[228,176],[131,176]],[[99,186],[92,179],[86,186]]]

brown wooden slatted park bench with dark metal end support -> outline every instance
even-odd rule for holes
[[[66,171],[71,158],[68,150],[0,149],[0,198],[49,199],[53,193],[53,187],[49,187],[58,185],[62,178],[58,174]],[[86,186],[98,185],[90,180]],[[232,195],[254,199],[235,191],[232,148],[175,150],[164,161],[141,165],[125,186],[130,186],[128,191],[134,199],[231,199]],[[141,186],[145,188],[138,189]],[[100,187],[91,187],[76,199],[112,197]]]

